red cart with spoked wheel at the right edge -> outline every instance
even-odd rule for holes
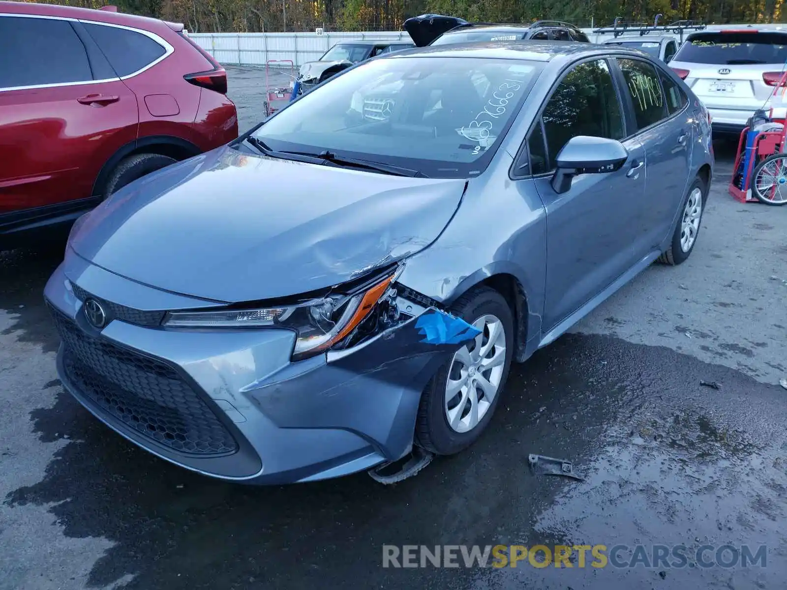
[[[787,71],[770,96],[767,120],[746,127],[738,141],[730,194],[741,203],[787,204]],[[752,124],[754,123],[752,117]],[[763,128],[764,127],[764,128]],[[770,127],[770,128],[769,128]],[[758,131],[758,128],[761,131]]]

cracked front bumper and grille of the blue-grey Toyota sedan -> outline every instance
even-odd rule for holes
[[[293,332],[164,329],[156,310],[206,302],[74,253],[45,297],[61,333],[61,381],[98,419],[179,466],[258,484],[401,458],[412,448],[423,387],[459,348],[425,342],[413,318],[356,348],[291,363]],[[102,330],[83,313],[90,298],[108,310]]]

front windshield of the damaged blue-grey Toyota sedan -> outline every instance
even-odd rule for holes
[[[327,149],[467,178],[489,164],[541,67],[475,57],[372,60],[316,87],[254,135],[275,151]]]

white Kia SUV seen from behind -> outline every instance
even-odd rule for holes
[[[747,27],[689,35],[670,67],[708,107],[713,131],[740,133],[787,61],[787,31]]]

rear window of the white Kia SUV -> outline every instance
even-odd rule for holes
[[[700,33],[683,43],[674,61],[693,64],[784,64],[787,35],[779,33]]]

